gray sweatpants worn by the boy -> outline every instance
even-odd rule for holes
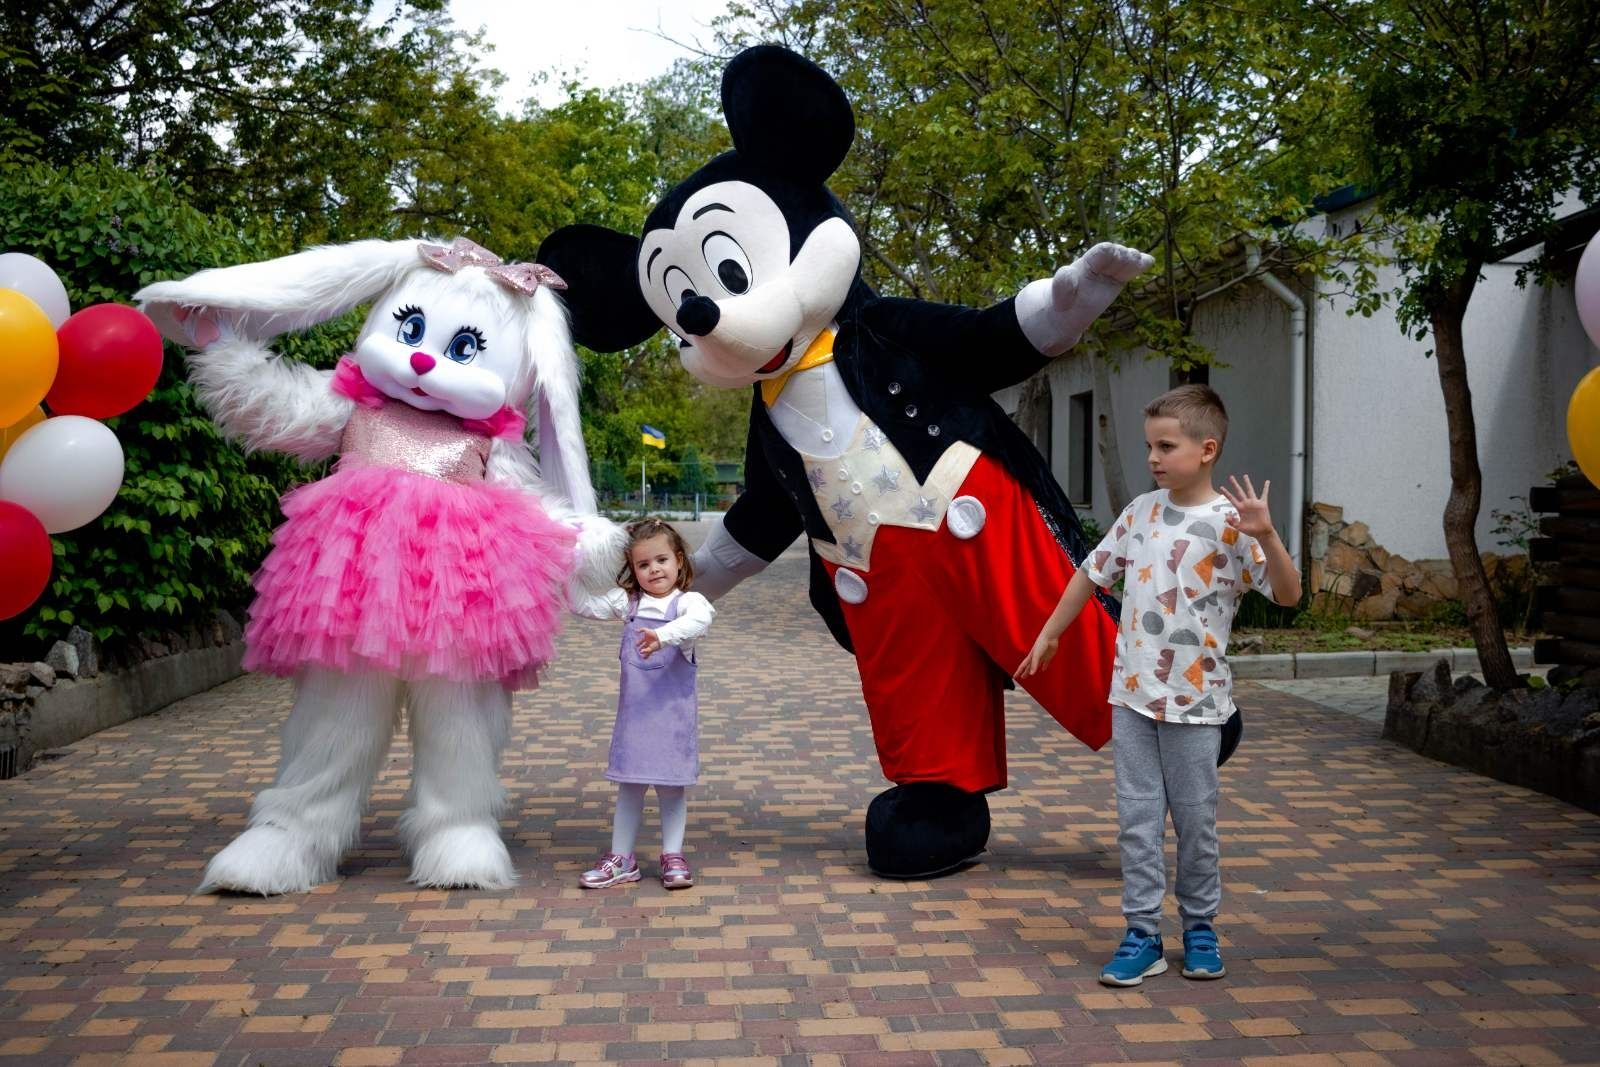
[[[1216,918],[1222,877],[1216,845],[1216,757],[1221,726],[1163,723],[1112,705],[1122,913],[1128,926],[1162,931],[1166,894],[1166,813],[1178,832],[1178,913],[1184,929]]]

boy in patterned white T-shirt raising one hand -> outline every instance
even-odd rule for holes
[[[1299,601],[1299,571],[1267,514],[1272,483],[1261,496],[1248,475],[1243,486],[1229,478],[1232,491],[1221,494],[1211,485],[1227,438],[1222,398],[1210,386],[1162,394],[1144,410],[1144,437],[1158,488],[1128,506],[1072,576],[1016,672],[1043,670],[1094,587],[1125,577],[1110,702],[1128,933],[1101,971],[1106,985],[1138,985],[1166,969],[1168,811],[1178,833],[1182,974],[1226,974],[1211,925],[1222,899],[1216,761],[1234,712],[1227,635],[1251,587],[1282,605]]]

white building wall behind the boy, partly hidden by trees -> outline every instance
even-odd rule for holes
[[[1342,222],[1349,224],[1352,214]],[[1341,221],[1341,219],[1334,219]],[[1531,259],[1538,250],[1518,254]],[[1467,374],[1483,469],[1478,545],[1504,550],[1491,528],[1494,510],[1520,507],[1512,498],[1544,482],[1571,458],[1566,402],[1578,379],[1600,366],[1600,350],[1584,336],[1568,285],[1517,288],[1515,262],[1493,264],[1474,293],[1466,318]],[[1288,278],[1285,278],[1288,280]],[[1379,283],[1400,277],[1382,270]],[[1307,504],[1344,509],[1363,522],[1389,552],[1445,558],[1443,510],[1450,454],[1432,341],[1400,333],[1394,309],[1371,318],[1347,315],[1344,298],[1309,299]],[[1229,406],[1229,440],[1218,475],[1250,474],[1258,488],[1272,480],[1272,517],[1288,528],[1290,315],[1256,283],[1210,298],[1195,310],[1195,338],[1216,352],[1211,384]],[[1069,398],[1093,389],[1086,357],[1069,352],[1046,371],[1051,384],[1051,469],[1069,485],[1080,442]],[[1144,405],[1168,387],[1165,360],[1144,350],[1122,355],[1112,397],[1128,493],[1154,483],[1144,450]],[[998,394],[1016,406],[1016,389]],[[1098,416],[1098,411],[1096,411]],[[1094,435],[1091,434],[1091,442]],[[1104,528],[1110,515],[1099,456],[1093,459],[1093,507]]]

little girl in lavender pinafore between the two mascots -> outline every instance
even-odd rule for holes
[[[694,694],[694,641],[717,611],[699,593],[688,547],[659,518],[627,528],[627,558],[613,589],[576,605],[589,619],[624,619],[622,689],[611,729],[605,776],[618,782],[611,851],[579,878],[586,889],[638,881],[634,841],[645,793],[656,787],[661,803],[661,885],[685,889],[694,873],[683,859],[688,822],[686,785],[699,781],[699,702]]]

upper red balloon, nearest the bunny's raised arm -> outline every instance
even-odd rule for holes
[[[162,334],[136,307],[85,307],[56,338],[61,366],[45,395],[54,414],[109,419],[149,397],[162,376]]]

